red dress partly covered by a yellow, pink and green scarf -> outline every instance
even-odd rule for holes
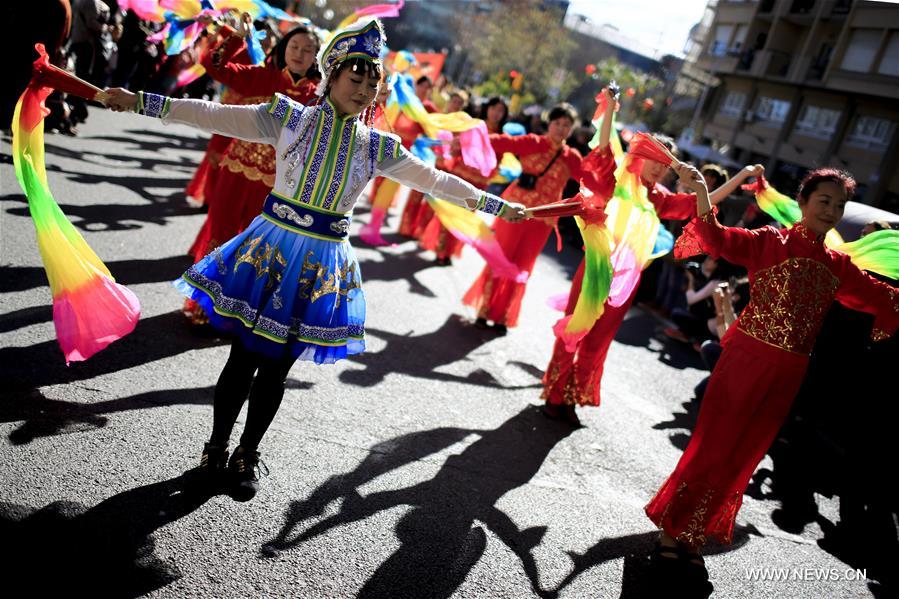
[[[614,161],[611,151],[601,155],[604,161]],[[599,169],[598,169],[599,170]],[[614,172],[614,168],[609,169]],[[662,219],[682,220],[696,214],[696,196],[692,193],[672,193],[662,185],[656,184],[647,190],[649,201],[655,207],[656,214]],[[565,314],[574,312],[578,297],[581,294],[581,283],[584,278],[584,260],[571,282],[568,305]],[[602,316],[581,340],[574,353],[565,349],[565,344],[556,339],[553,355],[546,374],[543,375],[542,398],[554,405],[598,406],[600,403],[600,386],[606,356],[612,340],[618,332],[627,311],[630,310],[637,295],[639,281],[634,291],[622,305],[613,307],[606,303]]]

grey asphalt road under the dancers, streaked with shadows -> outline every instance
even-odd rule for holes
[[[582,410],[574,431],[542,417],[557,318],[546,299],[568,287],[570,250],[547,248],[522,325],[496,337],[474,329],[460,301],[481,267],[475,253],[439,268],[395,235],[396,247],[357,244],[368,352],[293,368],[255,500],[181,492],[227,355],[223,340],[190,330],[169,284],[203,220],[182,190],[204,143],[187,127],[99,110],[78,137],[47,136],[57,202],[143,307],[131,336],[69,367],[25,198],[12,164],[0,164],[7,581],[30,595],[648,596],[656,532],[642,508],[686,443],[705,373],[634,310],[606,364],[602,407]],[[8,157],[8,138],[0,152]],[[753,568],[842,577],[849,567],[818,546],[819,523],[779,530],[764,472],[758,483],[735,545],[711,548],[714,596],[878,595],[865,581],[814,573],[748,581]],[[835,522],[838,500],[817,499],[822,520]]]

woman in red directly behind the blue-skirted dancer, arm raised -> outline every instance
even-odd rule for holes
[[[246,46],[251,17],[244,14],[238,31],[223,27],[223,40],[206,53],[201,64],[210,77],[241,94],[242,104],[258,104],[282,93],[308,103],[315,97],[320,76],[315,68],[319,40],[305,26],[290,30],[262,65],[234,62]],[[223,242],[243,231],[262,210],[262,204],[275,180],[275,152],[266,144],[229,140],[207,187],[209,213],[191,247],[194,261],[200,261]],[[194,324],[205,324],[206,315],[190,299],[182,309]]]

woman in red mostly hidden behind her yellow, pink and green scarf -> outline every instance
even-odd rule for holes
[[[585,169],[589,164],[590,170],[608,173],[608,176],[612,178],[614,178],[615,165],[609,148],[609,127],[612,121],[613,104],[614,101],[607,103],[603,129],[600,131],[600,143],[591,152],[589,161],[585,161]],[[669,149],[674,150],[674,145],[670,140],[662,136],[658,137],[667,142]],[[661,219],[691,218],[695,214],[696,196],[692,193],[672,193],[658,183],[667,170],[668,167],[661,163],[649,159],[644,161],[640,178],[647,188],[649,200]],[[747,178],[761,175],[762,172],[759,165],[747,166],[742,169],[712,193],[712,203],[721,202]],[[614,181],[611,181],[612,187],[614,184]],[[571,283],[568,305],[565,308],[566,315],[574,312],[581,293],[583,276],[584,260],[581,260]],[[638,286],[639,282],[634,285],[633,292],[622,305],[612,306],[608,302],[605,304],[602,316],[596,321],[587,336],[581,340],[574,353],[566,350],[565,343],[561,339],[556,339],[552,358],[550,358],[546,374],[543,376],[542,398],[546,400],[544,413],[547,416],[563,418],[572,425],[579,426],[580,419],[575,412],[575,406],[599,406],[600,383],[606,355],[609,353],[612,339],[615,338],[618,328],[634,301]]]

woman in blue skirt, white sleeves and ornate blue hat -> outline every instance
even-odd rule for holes
[[[507,220],[524,217],[521,205],[426,166],[399,138],[369,126],[383,44],[377,19],[336,32],[318,54],[323,79],[312,106],[280,94],[268,105],[228,106],[107,90],[113,110],[275,146],[275,187],[262,214],[175,282],[213,326],[234,336],[198,472],[210,484],[227,473],[238,500],[258,491],[259,442],[293,363],[329,364],[365,348],[362,278],[347,236],[353,206],[372,178]],[[246,426],[229,461],[228,441],[247,398]]]

